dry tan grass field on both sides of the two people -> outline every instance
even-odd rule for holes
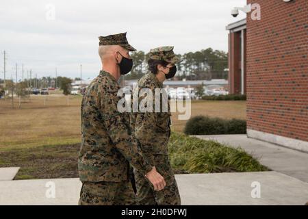
[[[45,105],[44,105],[44,99]],[[43,145],[76,144],[80,141],[81,96],[51,94],[31,96],[18,108],[0,101],[0,150]],[[183,131],[187,120],[172,114],[172,130]],[[246,101],[192,101],[192,116],[246,118]]]

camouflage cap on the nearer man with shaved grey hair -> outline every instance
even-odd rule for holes
[[[135,48],[131,47],[126,38],[126,32],[120,34],[112,34],[109,36],[99,36],[99,45],[119,45],[128,51],[136,51]]]

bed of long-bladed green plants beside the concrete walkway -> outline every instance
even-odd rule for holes
[[[169,157],[176,173],[266,171],[257,159],[240,148],[172,133]]]

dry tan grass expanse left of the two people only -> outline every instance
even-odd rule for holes
[[[45,99],[45,101],[44,101]],[[45,105],[44,105],[45,103]],[[31,96],[18,108],[16,99],[0,101],[0,150],[80,141],[81,96]]]

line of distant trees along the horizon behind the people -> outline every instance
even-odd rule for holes
[[[201,51],[188,52],[183,55],[177,54],[181,57],[181,62],[177,64],[178,73],[174,79],[182,80],[210,80],[210,79],[227,79],[228,73],[225,70],[228,67],[228,54],[224,51],[213,50],[211,48],[202,49]],[[144,51],[134,51],[131,54],[133,58],[133,68],[128,75],[121,77],[123,79],[140,79],[148,70],[147,60],[149,53]],[[80,78],[75,78],[80,80]],[[24,96],[29,92],[29,88],[61,88],[64,94],[69,94],[70,83],[73,79],[68,77],[41,77],[24,79],[18,83],[13,83],[12,80],[6,80],[5,88],[0,79],[0,92],[3,94],[4,90],[14,92]]]

